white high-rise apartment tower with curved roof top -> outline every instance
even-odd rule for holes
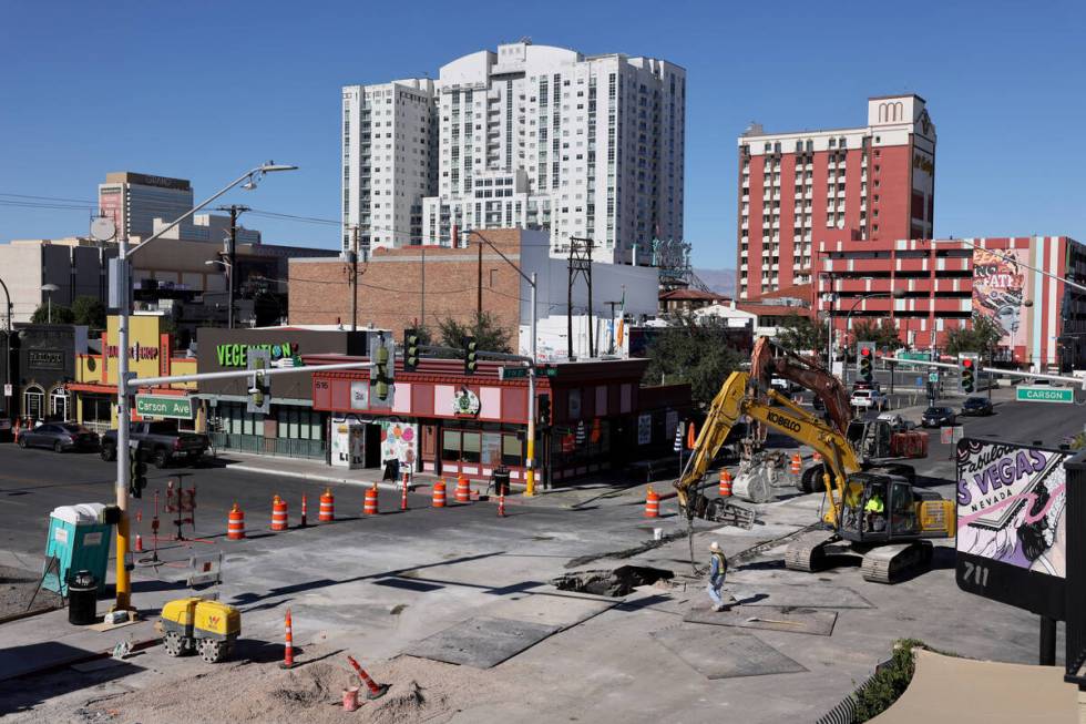
[[[683,237],[685,109],[677,65],[526,41],[437,81],[347,86],[345,248],[356,224],[373,246],[520,226],[554,253],[590,237],[594,258],[647,264],[654,238]]]

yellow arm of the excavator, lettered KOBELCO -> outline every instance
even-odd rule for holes
[[[679,503],[689,510],[690,489],[705,477],[709,465],[720,450],[728,434],[739,418],[748,415],[801,445],[817,450],[829,468],[826,489],[830,492],[831,522],[836,524],[840,500],[843,499],[848,476],[861,469],[852,447],[844,435],[830,427],[821,419],[792,404],[787,397],[777,391],[762,388],[760,391],[778,407],[770,406],[752,394],[757,388],[746,373],[731,373],[725,380],[709,406],[709,414],[694,445],[694,455],[687,461],[679,479],[675,481]],[[837,492],[837,499],[833,499]]]

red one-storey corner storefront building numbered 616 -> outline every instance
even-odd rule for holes
[[[307,364],[349,361],[307,357]],[[330,414],[330,460],[489,479],[494,468],[525,480],[527,379],[500,379],[503,365],[481,361],[471,376],[459,359],[423,359],[407,373],[397,360],[391,404],[377,400],[365,370],[314,373],[313,406]],[[689,416],[688,385],[641,387],[648,361],[624,359],[540,366],[536,394],[550,401],[551,425],[537,427],[540,479],[561,482],[621,469],[670,452],[675,428]],[[516,368],[505,363],[509,368]],[[540,409],[539,404],[536,409]]]

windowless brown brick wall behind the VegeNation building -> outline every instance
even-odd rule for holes
[[[520,230],[489,230],[489,242],[514,264],[519,263]],[[409,246],[377,249],[359,264],[358,325],[391,329],[397,336],[422,315],[423,249]],[[340,259],[295,261],[289,267],[290,324],[350,325],[350,267]],[[452,317],[472,323],[479,294],[479,243],[473,233],[467,248],[426,247],[426,326],[437,335],[438,323]],[[482,307],[518,344],[521,277],[492,249],[483,245]]]

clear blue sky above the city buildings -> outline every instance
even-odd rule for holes
[[[868,95],[902,91],[928,100],[939,132],[936,235],[1086,242],[1086,3],[879,4],[9,2],[0,201],[93,201],[119,170],[191,179],[201,197],[274,159],[301,170],[224,201],[335,220],[341,85],[437,77],[530,35],[687,69],[697,266],[735,266],[736,136],[750,120],[859,125]],[[86,212],[0,203],[0,242],[86,225]],[[334,226],[248,225],[266,242],[337,246]]]

